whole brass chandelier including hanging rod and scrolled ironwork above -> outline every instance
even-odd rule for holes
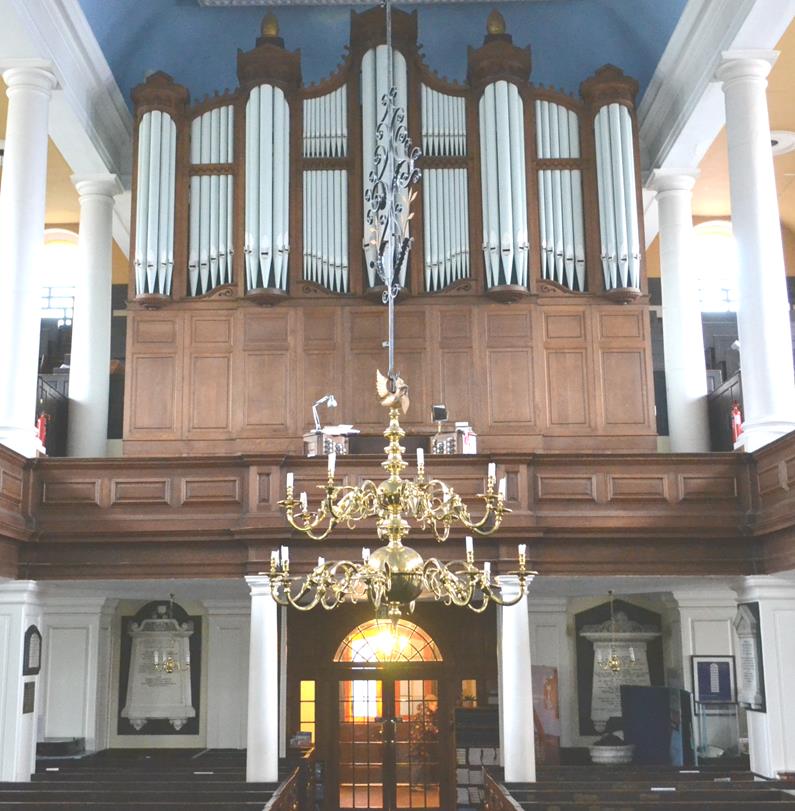
[[[472,536],[466,538],[465,557],[443,563],[438,558],[423,557],[403,541],[409,534],[409,520],[420,530],[430,532],[443,542],[450,536],[453,525],[479,535],[491,535],[510,512],[505,506],[505,479],[496,482],[496,465],[488,466],[483,514],[475,519],[469,508],[452,488],[444,482],[426,478],[424,454],[417,451],[417,470],[413,480],[401,476],[408,463],[403,459],[400,440],[405,431],[400,426],[400,411],[409,405],[408,386],[395,369],[395,300],[400,293],[403,271],[408,262],[412,238],[409,224],[411,203],[416,196],[412,187],[420,178],[416,166],[420,150],[413,146],[406,126],[406,111],[397,104],[397,88],[393,77],[391,0],[385,2],[386,46],[389,91],[382,98],[384,111],[376,129],[376,148],[371,186],[365,194],[368,205],[367,224],[373,234],[370,255],[371,268],[383,282],[382,300],[387,305],[389,370],[384,377],[378,373],[377,392],[381,403],[389,409],[389,424],[384,431],[388,440],[386,459],[381,466],[389,474],[376,484],[367,480],[356,487],[338,486],[335,482],[336,454],[328,456],[328,478],[318,508],[310,510],[306,493],[294,494],[294,478],[287,474],[287,492],[279,502],[293,529],[313,540],[323,540],[340,524],[352,528],[357,522],[375,518],[376,534],[382,546],[370,552],[362,549],[360,562],[341,560],[327,562],[319,557],[317,565],[305,576],[290,573],[289,550],[273,552],[270,583],[273,598],[281,605],[291,605],[308,611],[320,605],[333,609],[343,603],[368,600],[377,613],[388,616],[393,623],[411,612],[421,596],[428,596],[445,605],[466,606],[484,611],[490,602],[514,605],[524,596],[535,572],[526,565],[526,546],[519,544],[518,568],[515,576],[518,594],[506,597],[499,581],[492,576],[491,564],[481,568],[475,564]]]

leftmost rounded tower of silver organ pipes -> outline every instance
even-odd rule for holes
[[[141,116],[135,233],[137,295],[171,294],[174,270],[174,204],[177,128],[160,110]]]

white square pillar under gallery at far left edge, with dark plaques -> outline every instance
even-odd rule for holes
[[[25,684],[40,689],[38,676],[22,675],[25,631],[41,630],[37,584],[13,580],[0,584],[0,782],[26,782],[36,769],[36,719],[41,704],[36,695],[33,712],[23,712]]]

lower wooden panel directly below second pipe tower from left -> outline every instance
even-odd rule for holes
[[[244,357],[243,428],[287,432],[291,427],[290,363],[286,352]]]

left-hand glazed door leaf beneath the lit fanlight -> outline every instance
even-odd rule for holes
[[[339,807],[384,807],[381,682],[351,679],[339,691]]]

